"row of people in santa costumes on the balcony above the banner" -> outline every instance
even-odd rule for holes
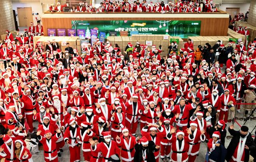
[[[54,4],[49,5],[50,12],[64,12],[64,7],[68,7],[70,4],[60,4],[58,2],[56,6]],[[79,2],[77,6],[71,6],[69,12],[159,12],[159,13],[174,13],[174,12],[217,12],[216,5],[212,0],[178,0],[176,3],[164,1],[161,3],[147,2],[143,0],[130,1],[117,1],[117,0],[103,0],[98,8],[92,6],[92,4],[86,2]]]

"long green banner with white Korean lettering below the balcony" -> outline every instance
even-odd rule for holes
[[[71,21],[72,29],[97,29],[98,32],[105,32],[106,37],[109,32],[120,31],[130,32],[138,31],[139,34],[168,34],[170,36],[179,36],[188,38],[188,36],[200,36],[201,21],[184,20],[112,20],[112,21]]]

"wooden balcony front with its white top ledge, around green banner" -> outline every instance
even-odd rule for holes
[[[226,12],[202,12],[202,13],[69,13],[69,12],[45,12],[42,15],[44,36],[48,28],[71,29],[72,20],[200,20],[200,36],[227,36],[229,14]],[[104,25],[104,24],[102,24]]]

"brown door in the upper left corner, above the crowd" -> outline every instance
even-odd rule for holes
[[[22,7],[22,8],[17,8],[17,11],[18,11],[18,18],[19,18],[19,26],[22,26],[22,27],[30,26],[30,22],[33,22],[32,8]]]

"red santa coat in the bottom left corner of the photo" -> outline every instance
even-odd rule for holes
[[[3,152],[0,152],[0,158],[5,158],[4,162],[13,162],[14,158],[16,158],[15,156],[15,143],[14,141],[12,140],[12,144],[11,144],[11,148],[9,146],[7,146],[7,144],[2,144],[1,146],[4,151]],[[12,159],[11,160],[8,160],[8,159]]]

